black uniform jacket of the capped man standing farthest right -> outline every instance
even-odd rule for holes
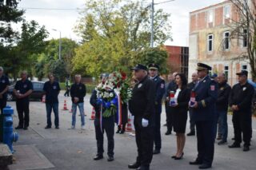
[[[230,93],[230,106],[238,105],[238,113],[251,113],[251,104],[254,97],[254,87],[246,82],[245,85],[236,84]]]

